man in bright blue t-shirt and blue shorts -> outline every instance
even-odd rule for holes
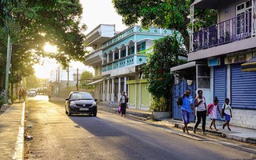
[[[189,133],[187,125],[190,123],[190,114],[194,115],[194,99],[190,95],[190,90],[187,89],[186,92],[182,95],[182,119],[184,122],[184,126],[182,127],[183,132],[187,134]]]

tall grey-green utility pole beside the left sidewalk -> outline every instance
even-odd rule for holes
[[[8,85],[9,85],[9,72],[10,72],[10,34],[8,35],[7,43],[7,57],[6,57],[6,93],[5,93],[5,103],[7,103],[8,98]]]

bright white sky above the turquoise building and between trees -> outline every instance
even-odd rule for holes
[[[122,24],[122,17],[115,12],[111,0],[80,0],[80,2],[83,7],[82,22],[87,26],[85,34],[100,24],[115,24],[116,31],[126,30],[127,26]],[[50,47],[52,46],[48,45],[46,50],[52,50]],[[70,66],[94,73],[92,67],[85,66],[82,62],[71,62]],[[56,61],[46,58],[43,65],[34,65],[35,75],[38,78],[50,78],[50,71],[57,67]]]

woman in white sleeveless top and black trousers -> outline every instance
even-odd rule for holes
[[[197,112],[197,122],[194,126],[194,134],[202,119],[202,134],[206,134],[206,98],[202,96],[202,90],[198,90],[198,97],[194,99],[194,106]]]

